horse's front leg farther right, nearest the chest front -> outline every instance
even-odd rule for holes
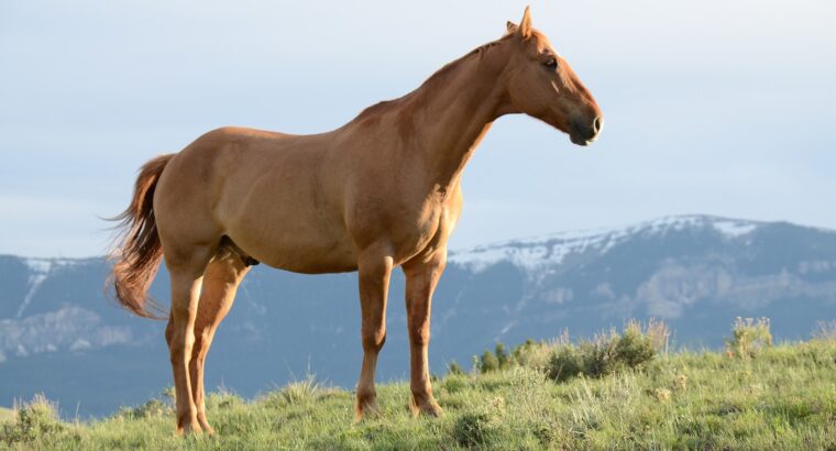
[[[428,258],[403,266],[406,275],[406,311],[409,333],[409,388],[414,415],[440,416],[441,407],[432,396],[428,349],[430,344],[430,307],[441,273],[447,264],[447,249],[437,250]]]

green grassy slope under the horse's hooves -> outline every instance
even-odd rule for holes
[[[304,381],[249,402],[212,394],[215,437],[176,437],[168,402],[152,400],[89,424],[43,414],[0,424],[0,448],[836,449],[835,359],[836,341],[815,340],[747,359],[661,354],[639,370],[559,383],[517,364],[436,381],[439,419],[411,417],[408,384],[381,385],[382,415],[359,425],[351,392]]]

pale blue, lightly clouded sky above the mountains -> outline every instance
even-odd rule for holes
[[[136,169],[201,133],[332,130],[531,6],[604,111],[496,121],[450,248],[667,215],[836,229],[836,2],[0,2],[0,254],[106,252]]]

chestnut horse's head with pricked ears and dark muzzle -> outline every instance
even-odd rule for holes
[[[513,45],[505,79],[514,109],[569,134],[575,144],[597,140],[604,125],[598,105],[549,40],[531,26],[528,8],[519,25],[508,22],[507,29],[505,40]]]

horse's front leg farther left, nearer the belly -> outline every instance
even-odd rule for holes
[[[360,307],[362,312],[363,369],[358,381],[355,420],[376,414],[374,373],[377,353],[386,341],[386,296],[393,260],[391,252],[366,250],[361,255],[358,270]]]

